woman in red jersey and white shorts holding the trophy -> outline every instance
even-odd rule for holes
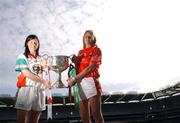
[[[83,49],[72,61],[76,65],[77,75],[68,79],[71,87],[75,82],[78,83],[80,104],[79,113],[83,123],[91,123],[92,115],[96,123],[103,123],[101,111],[101,85],[99,82],[99,66],[102,54],[96,45],[96,37],[92,30],[87,30],[83,36]]]

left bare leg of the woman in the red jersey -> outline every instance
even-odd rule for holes
[[[83,123],[91,123],[90,119],[90,107],[87,100],[80,101],[79,113]]]

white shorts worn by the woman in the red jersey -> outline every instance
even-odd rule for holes
[[[92,77],[83,78],[81,82],[78,83],[78,89],[80,100],[87,100],[97,95],[95,82]]]

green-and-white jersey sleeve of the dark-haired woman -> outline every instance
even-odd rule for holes
[[[21,72],[22,70],[29,70],[26,57],[24,55],[19,55],[16,60],[15,71]]]

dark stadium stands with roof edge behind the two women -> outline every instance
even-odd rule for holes
[[[68,96],[53,95],[53,119],[47,120],[42,113],[41,123],[81,122],[74,103]],[[16,122],[15,98],[0,95],[0,122]],[[180,123],[180,84],[163,90],[126,94],[103,93],[102,111],[107,123]]]

